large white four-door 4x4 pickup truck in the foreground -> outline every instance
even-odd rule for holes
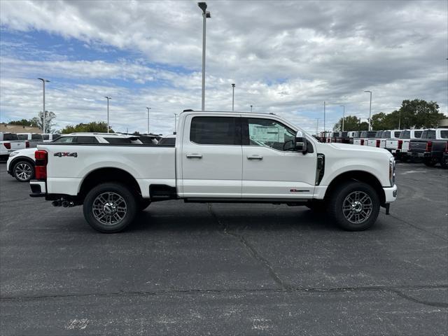
[[[395,160],[380,148],[321,144],[273,114],[186,110],[176,145],[39,144],[31,197],[83,204],[118,232],[151,202],[246,202],[326,209],[365,230],[395,201]]]

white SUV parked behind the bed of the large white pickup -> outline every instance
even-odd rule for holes
[[[116,133],[71,133],[62,134],[52,144],[141,144],[137,137]],[[10,153],[6,170],[20,182],[34,178],[36,148],[22,149]]]

